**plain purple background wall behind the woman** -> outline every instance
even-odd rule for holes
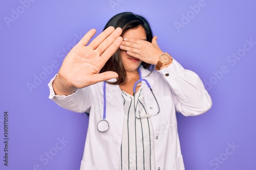
[[[0,169],[79,169],[88,118],[49,100],[47,84],[62,63],[62,50],[91,28],[99,34],[124,11],[146,17],[162,50],[208,82],[211,110],[196,117],[177,114],[185,168],[255,169],[256,44],[242,50],[245,39],[256,42],[255,6],[251,0],[2,1]],[[183,27],[176,28],[177,22]],[[232,53],[242,57],[229,57]],[[5,111],[8,166],[3,161]]]

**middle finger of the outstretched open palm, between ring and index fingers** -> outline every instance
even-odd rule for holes
[[[101,54],[122,34],[122,29],[117,28],[108,38],[106,38],[97,48],[97,52]],[[119,44],[120,45],[120,44]],[[118,46],[119,46],[118,45]]]

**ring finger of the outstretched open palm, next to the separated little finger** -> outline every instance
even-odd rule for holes
[[[106,28],[102,33],[100,33],[94,40],[88,45],[93,49],[96,49],[99,44],[101,44],[109,35],[115,31],[114,27]]]

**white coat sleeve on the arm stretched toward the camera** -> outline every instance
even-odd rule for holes
[[[54,93],[52,84],[55,77],[48,84],[50,88],[49,99],[53,100],[59,106],[78,113],[90,112],[92,105],[92,88],[90,86],[77,89],[73,94],[70,95],[56,95]]]

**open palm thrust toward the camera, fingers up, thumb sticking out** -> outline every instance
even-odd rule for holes
[[[87,45],[95,33],[90,30],[66,56],[53,82],[55,94],[69,95],[77,88],[118,77],[113,71],[99,71],[122,43],[122,29],[109,27]]]

